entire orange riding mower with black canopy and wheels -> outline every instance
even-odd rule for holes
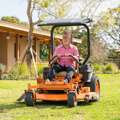
[[[43,78],[37,78],[37,85],[28,84],[28,89],[25,90],[25,102],[27,106],[34,106],[36,100],[42,101],[67,101],[69,107],[77,105],[78,100],[84,100],[86,103],[89,101],[98,101],[100,98],[100,81],[98,76],[89,63],[86,64],[90,56],[90,30],[85,23],[92,22],[90,18],[69,18],[69,19],[56,19],[44,21],[39,26],[53,26],[51,30],[51,53],[53,55],[53,31],[56,27],[61,26],[84,26],[87,29],[87,45],[88,54],[84,62],[79,58],[77,61],[72,55],[71,57],[76,61],[76,70],[73,78],[67,84],[63,82],[67,72],[62,71],[56,73],[55,78],[51,82],[45,82],[51,66],[57,63],[52,63],[54,56],[49,61],[49,67],[43,68]]]

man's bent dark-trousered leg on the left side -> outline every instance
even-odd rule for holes
[[[49,74],[48,74],[47,79],[49,79],[50,81],[52,81],[52,79],[55,77],[55,73],[56,73],[56,72],[63,71],[63,70],[65,70],[65,68],[64,68],[63,66],[61,66],[61,65],[54,65],[54,66],[51,68],[51,70],[50,70],[50,72],[49,72]]]

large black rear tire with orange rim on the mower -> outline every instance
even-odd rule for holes
[[[92,75],[91,82],[86,82],[85,87],[90,87],[90,92],[96,92],[97,96],[92,98],[92,101],[98,101],[100,99],[100,81],[98,76]]]

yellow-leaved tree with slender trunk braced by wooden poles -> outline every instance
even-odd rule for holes
[[[66,15],[69,6],[67,5],[70,1],[74,0],[27,0],[27,15],[29,20],[29,32],[28,32],[28,54],[27,54],[27,65],[31,66],[31,54],[30,47],[32,46],[32,35],[34,25],[40,23],[41,21],[47,19],[62,18]],[[70,4],[69,4],[70,5]],[[53,7],[54,6],[54,7]],[[33,22],[32,15],[34,10],[38,11],[38,21]]]

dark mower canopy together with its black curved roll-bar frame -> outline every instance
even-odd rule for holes
[[[88,58],[90,57],[90,30],[86,23],[91,23],[91,18],[66,18],[66,19],[54,19],[54,20],[47,20],[41,22],[38,26],[53,26],[51,29],[51,54],[53,56],[53,44],[54,44],[54,36],[53,32],[56,27],[61,26],[84,26],[87,29],[87,45],[88,45],[88,54],[85,58],[83,65],[87,62]]]

